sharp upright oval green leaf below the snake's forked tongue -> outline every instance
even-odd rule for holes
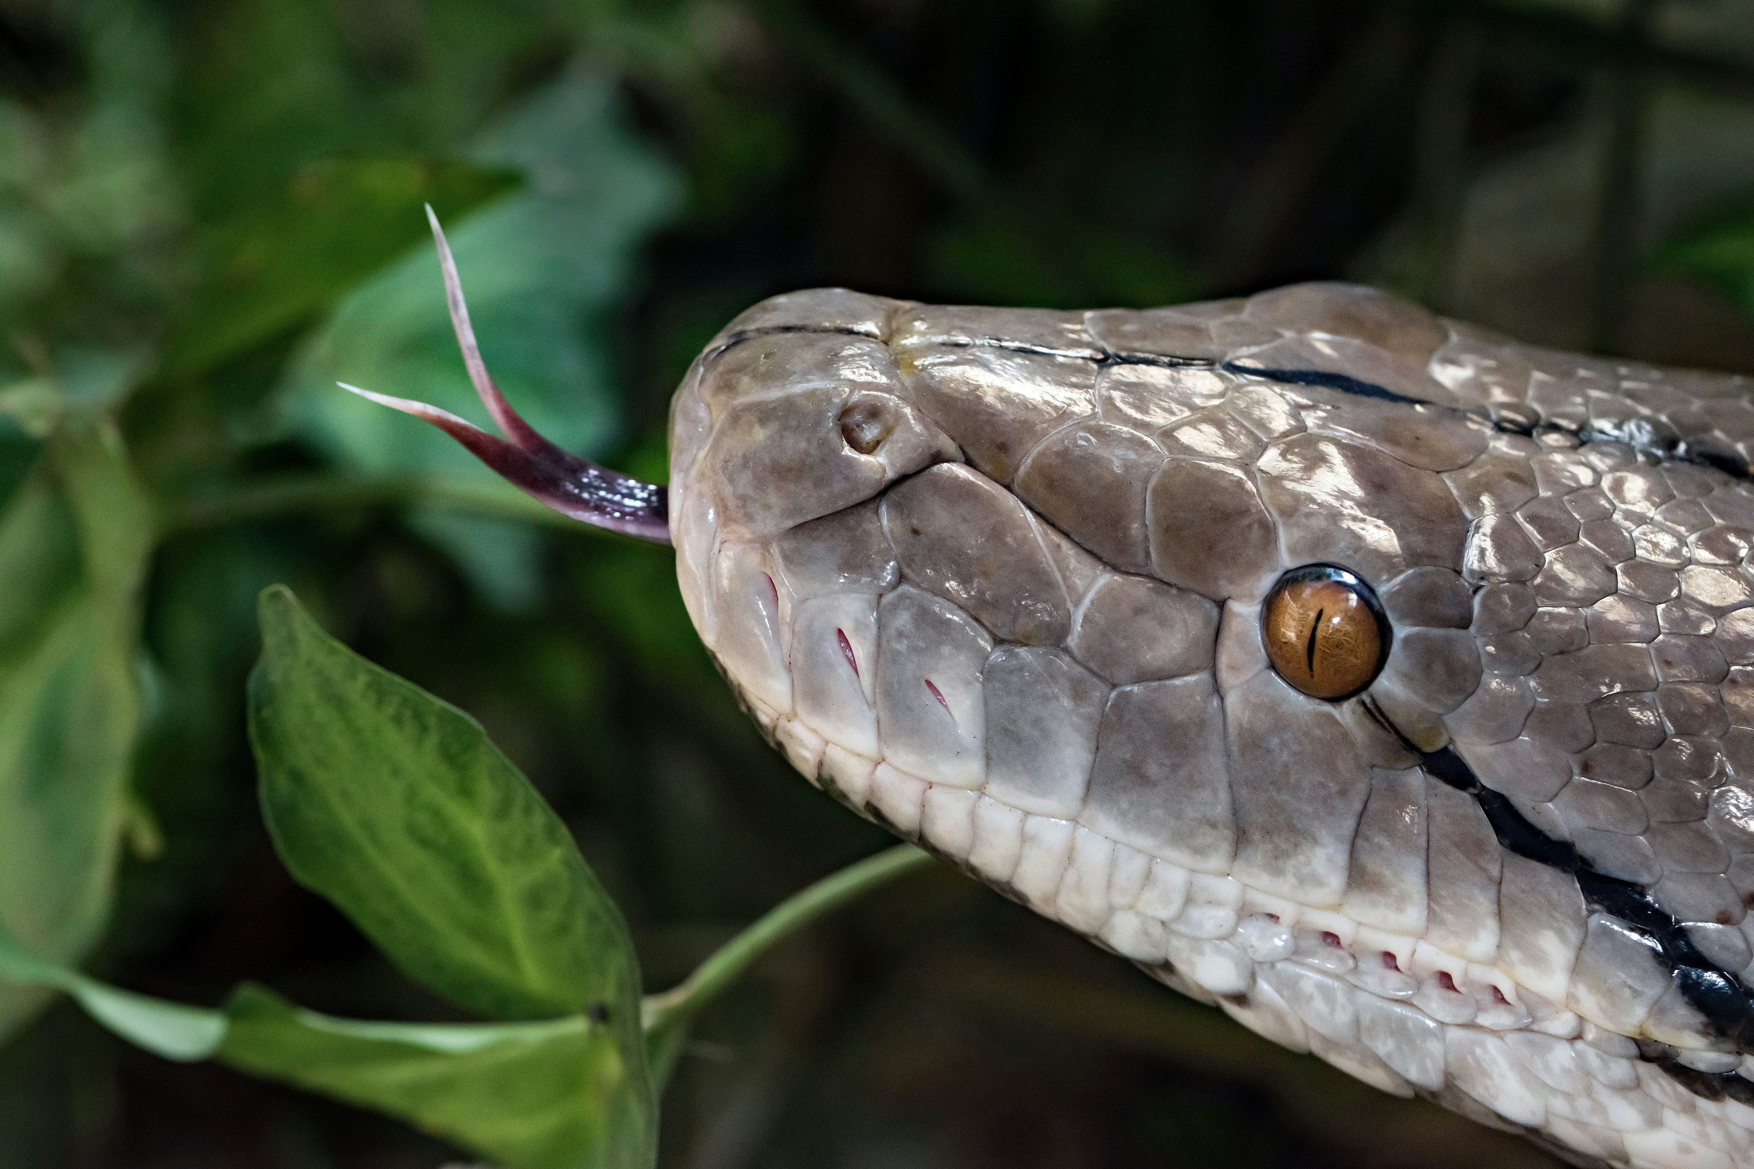
[[[605,1008],[637,1041],[621,913],[481,724],[330,638],[284,587],[260,617],[249,734],[293,875],[470,1010]]]

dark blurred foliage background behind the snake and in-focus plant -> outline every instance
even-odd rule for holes
[[[49,394],[119,419],[158,524],[125,859],[88,960],[126,987],[451,1017],[268,847],[242,684],[275,580],[486,722],[651,988],[882,843],[744,724],[667,550],[533,522],[333,387],[481,417],[423,202],[512,400],[649,477],[705,338],[817,284],[1082,308],[1342,277],[1535,342],[1754,370],[1754,5],[0,0],[0,507]],[[0,1048],[9,1169],[449,1157],[67,1006]],[[1280,1053],[949,871],[714,1008],[661,1158],[1556,1164]]]

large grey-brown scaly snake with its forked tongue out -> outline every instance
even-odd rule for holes
[[[675,549],[823,792],[1158,981],[1579,1165],[1754,1165],[1754,398],[1356,284],[812,289],[670,480],[463,442]],[[349,387],[353,389],[353,387]]]

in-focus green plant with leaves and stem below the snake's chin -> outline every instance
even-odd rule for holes
[[[507,1169],[645,1169],[695,1017],[796,931],[931,862],[898,845],[847,866],[642,997],[619,910],[481,724],[330,638],[284,585],[258,613],[249,741],[281,861],[421,987],[528,1022],[333,1018],[254,983],[200,1010],[88,978],[4,927],[0,985],[61,990],[146,1052],[374,1108]]]

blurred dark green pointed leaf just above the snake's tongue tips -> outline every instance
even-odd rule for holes
[[[424,203],[461,217],[517,184],[509,170],[417,158],[323,159],[281,198],[214,231],[210,279],[165,358],[200,370],[298,324],[428,240]]]

